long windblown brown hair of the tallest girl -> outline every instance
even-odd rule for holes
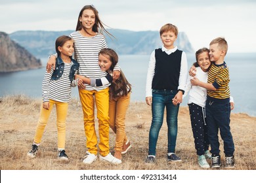
[[[98,10],[93,5],[85,5],[79,12],[78,20],[77,20],[77,25],[75,28],[75,31],[80,31],[83,28],[82,23],[79,21],[79,18],[83,15],[84,10],[93,10],[95,14],[95,24],[93,25],[93,31],[95,33],[101,33],[103,35],[103,32],[106,33],[108,36],[114,37],[111,33],[109,33],[102,22],[100,20],[100,17],[98,16]],[[86,31],[86,30],[85,30]],[[87,31],[86,31],[87,32]],[[88,32],[87,32],[88,33]],[[90,33],[88,33],[90,34]]]

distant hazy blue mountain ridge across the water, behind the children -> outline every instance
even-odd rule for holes
[[[151,54],[162,43],[158,31],[127,31],[108,29],[115,38],[106,36],[109,48],[117,54]],[[69,31],[16,31],[10,34],[12,40],[24,46],[37,57],[46,57],[55,52],[54,44],[60,35],[70,35]],[[180,32],[176,45],[184,52],[194,52],[186,33]]]

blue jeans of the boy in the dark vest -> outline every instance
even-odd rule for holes
[[[163,124],[163,113],[166,107],[166,120],[168,127],[168,152],[175,152],[179,105],[173,105],[172,99],[177,90],[152,91],[152,124],[149,133],[148,155],[156,156],[156,143]]]

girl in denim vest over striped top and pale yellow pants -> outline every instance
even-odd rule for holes
[[[77,74],[79,63],[72,59],[74,52],[74,41],[71,37],[61,36],[55,42],[56,68],[51,68],[50,73],[45,73],[42,85],[43,105],[33,139],[32,149],[28,156],[34,158],[41,142],[43,131],[51,114],[53,106],[56,106],[57,128],[58,128],[58,158],[68,160],[65,152],[66,139],[66,116],[68,102],[70,101],[71,86],[77,86],[74,75]]]

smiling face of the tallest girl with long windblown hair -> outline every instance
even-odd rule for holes
[[[80,16],[79,21],[82,23],[82,27],[89,31],[93,30],[93,25],[95,24],[95,13],[91,9],[83,10],[82,16]]]

